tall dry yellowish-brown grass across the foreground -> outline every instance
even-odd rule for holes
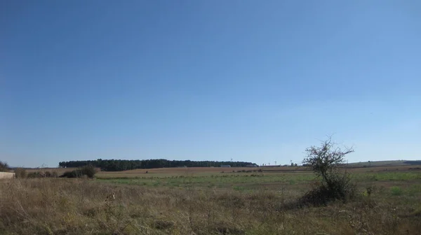
[[[115,199],[107,197],[115,195]],[[0,234],[419,234],[413,205],[361,198],[295,208],[300,194],[111,185],[95,180],[0,181]],[[108,199],[107,199],[108,198]],[[289,206],[288,206],[289,205]],[[397,206],[399,205],[399,206]],[[408,216],[401,216],[408,214]]]

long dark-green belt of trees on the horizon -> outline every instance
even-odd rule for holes
[[[89,160],[89,161],[69,161],[59,162],[59,167],[81,167],[91,165],[100,168],[102,171],[126,171],[133,169],[152,169],[152,168],[168,168],[168,167],[210,167],[230,165],[232,167],[245,167],[250,165],[258,166],[251,162],[212,162],[212,161],[177,161],[167,159],[149,159],[149,160]]]

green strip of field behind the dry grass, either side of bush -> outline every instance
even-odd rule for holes
[[[361,185],[409,185],[418,187],[421,172],[356,173],[352,178]],[[294,188],[301,192],[309,190],[314,183],[314,174],[306,173],[226,173],[220,175],[144,176],[138,178],[100,178],[100,182],[142,185],[150,187],[232,190],[280,190]]]

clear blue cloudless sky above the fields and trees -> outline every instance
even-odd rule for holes
[[[0,160],[421,159],[421,1],[0,1]]]

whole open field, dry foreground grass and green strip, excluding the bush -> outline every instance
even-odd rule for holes
[[[258,169],[1,180],[0,234],[420,234],[420,170],[349,169],[359,185],[355,201],[300,207],[314,174]]]

